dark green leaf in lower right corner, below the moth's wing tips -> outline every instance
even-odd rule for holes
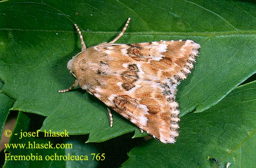
[[[255,98],[256,81],[237,87],[207,111],[183,116],[175,144],[149,140],[130,151],[123,168],[254,167]]]

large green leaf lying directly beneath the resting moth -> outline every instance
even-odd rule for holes
[[[110,128],[106,106],[82,89],[58,93],[74,82],[66,69],[81,50],[74,23],[87,46],[115,38],[128,17],[131,22],[120,43],[191,39],[201,44],[195,68],[178,87],[180,116],[212,107],[256,72],[256,14],[255,4],[249,2],[0,3],[0,79],[5,82],[3,92],[17,100],[12,109],[47,116],[42,129],[90,133],[88,142],[136,127],[113,112]]]

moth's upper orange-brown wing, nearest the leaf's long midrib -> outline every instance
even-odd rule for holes
[[[136,63],[149,80],[175,78],[174,83],[185,79],[193,68],[200,45],[191,40],[156,41],[117,46],[96,46],[105,54],[109,65],[121,72],[128,64]]]

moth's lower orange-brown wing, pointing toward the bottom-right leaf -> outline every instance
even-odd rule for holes
[[[136,83],[136,89],[119,94],[113,92],[107,100],[102,101],[154,138],[163,143],[174,143],[180,120],[178,103],[172,94],[168,95],[167,100],[161,85],[141,80]]]

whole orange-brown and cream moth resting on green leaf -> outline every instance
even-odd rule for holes
[[[78,26],[82,52],[68,62],[76,86],[87,90],[141,130],[163,143],[174,143],[178,137],[179,109],[176,87],[193,68],[200,45],[191,40],[155,41],[134,44],[111,42],[86,48]]]

